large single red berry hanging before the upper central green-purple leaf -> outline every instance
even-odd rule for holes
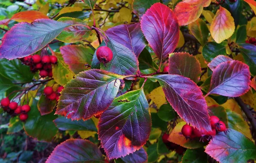
[[[113,58],[111,49],[107,46],[101,46],[96,51],[96,56],[101,63],[108,63]]]

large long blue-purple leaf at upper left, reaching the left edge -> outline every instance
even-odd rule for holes
[[[33,23],[19,23],[4,36],[0,58],[9,60],[33,54],[55,39],[70,24],[51,19],[37,19]]]

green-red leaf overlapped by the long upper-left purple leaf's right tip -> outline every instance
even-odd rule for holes
[[[69,17],[62,17],[58,19],[60,22],[68,23],[68,24],[77,24],[70,27],[66,27],[61,34],[57,36],[56,39],[72,43],[78,42],[86,39],[91,33],[91,27],[85,24],[84,21],[78,18],[69,18]]]

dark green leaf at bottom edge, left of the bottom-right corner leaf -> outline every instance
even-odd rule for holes
[[[187,149],[181,163],[207,163],[207,154],[204,148]]]

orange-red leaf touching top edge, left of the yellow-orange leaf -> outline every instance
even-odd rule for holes
[[[179,20],[179,25],[187,25],[196,21],[203,8],[210,5],[210,0],[183,0],[178,3],[174,9],[174,12]]]

